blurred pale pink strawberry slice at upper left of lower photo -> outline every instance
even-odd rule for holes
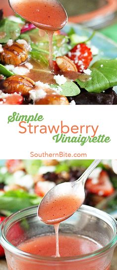
[[[18,170],[23,170],[23,162],[19,159],[9,159],[6,161],[6,167],[8,172],[14,173]]]

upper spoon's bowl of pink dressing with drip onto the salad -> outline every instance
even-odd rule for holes
[[[47,32],[50,68],[53,70],[53,34],[67,23],[67,14],[63,6],[58,0],[9,0],[9,3],[22,18]]]

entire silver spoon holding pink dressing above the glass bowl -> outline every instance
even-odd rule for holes
[[[60,223],[70,217],[83,204],[85,182],[100,161],[94,160],[78,180],[51,189],[40,202],[38,217],[47,224]]]

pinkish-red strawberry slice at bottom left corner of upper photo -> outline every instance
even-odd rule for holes
[[[20,105],[23,103],[21,95],[11,94],[3,99],[3,105]]]

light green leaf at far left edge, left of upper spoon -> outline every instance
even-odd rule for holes
[[[17,22],[7,18],[0,21],[0,44],[7,43],[9,39],[16,40],[21,32],[21,27]]]

